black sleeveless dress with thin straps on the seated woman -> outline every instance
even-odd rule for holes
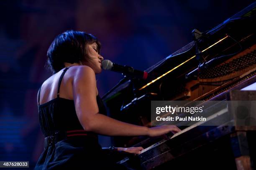
[[[38,113],[41,131],[45,140],[44,151],[40,155],[35,170],[59,169],[116,169],[126,170],[123,165],[113,162],[102,152],[97,134],[84,131],[77,118],[74,101],[59,97],[61,80],[69,67],[63,70],[58,84],[57,98],[39,105]],[[100,114],[107,114],[105,106],[97,95]]]

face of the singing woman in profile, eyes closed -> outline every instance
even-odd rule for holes
[[[86,51],[89,59],[84,64],[91,67],[95,74],[100,74],[103,57],[99,54],[97,43],[87,44]]]

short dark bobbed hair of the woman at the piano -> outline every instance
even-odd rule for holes
[[[87,56],[86,45],[92,43],[97,43],[97,51],[100,53],[100,41],[92,34],[73,30],[61,33],[47,51],[47,67],[55,74],[65,67],[64,62],[88,61],[90,58]]]

